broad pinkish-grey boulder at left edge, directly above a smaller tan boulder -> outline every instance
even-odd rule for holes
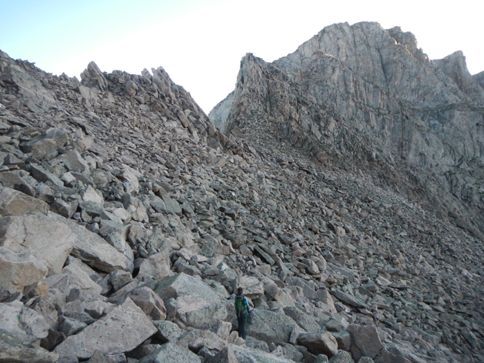
[[[0,245],[15,253],[30,253],[42,261],[49,274],[59,274],[73,250],[71,228],[40,213],[0,218]]]

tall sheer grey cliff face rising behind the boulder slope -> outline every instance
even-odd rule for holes
[[[482,84],[461,52],[431,61],[398,27],[335,24],[270,64],[246,55],[210,118],[248,139],[269,128],[482,230],[472,221],[484,207]]]

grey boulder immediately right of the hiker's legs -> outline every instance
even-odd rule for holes
[[[271,310],[250,310],[247,335],[269,343],[289,342],[296,322],[284,313]]]

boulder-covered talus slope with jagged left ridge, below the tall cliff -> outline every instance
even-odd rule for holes
[[[467,230],[225,136],[162,68],[0,53],[0,104],[1,361],[484,362]]]

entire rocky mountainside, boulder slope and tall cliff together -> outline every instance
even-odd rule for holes
[[[483,77],[413,40],[249,53],[225,132],[162,67],[0,52],[0,360],[483,362]]]

